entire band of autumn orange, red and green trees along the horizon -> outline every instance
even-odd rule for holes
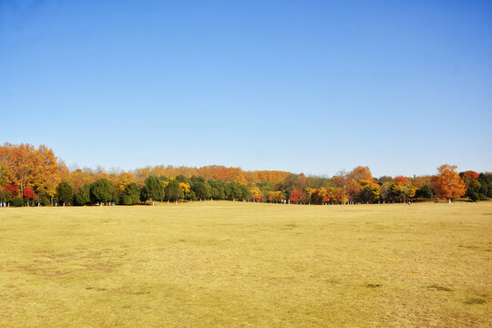
[[[435,176],[374,178],[368,167],[332,178],[278,170],[156,166],[132,171],[68,169],[41,145],[0,147],[0,200],[4,204],[145,204],[154,201],[247,200],[296,204],[387,203],[431,199],[487,200],[492,174],[457,172],[442,165]]]

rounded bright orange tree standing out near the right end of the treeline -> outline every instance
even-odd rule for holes
[[[466,192],[465,182],[459,177],[456,168],[456,165],[443,164],[437,168],[439,174],[432,177],[437,197],[446,198],[449,202]]]

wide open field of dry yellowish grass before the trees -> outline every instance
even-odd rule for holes
[[[1,327],[492,325],[492,202],[0,210]]]

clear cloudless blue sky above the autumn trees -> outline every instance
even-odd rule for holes
[[[0,141],[81,167],[490,171],[492,2],[0,0]]]

